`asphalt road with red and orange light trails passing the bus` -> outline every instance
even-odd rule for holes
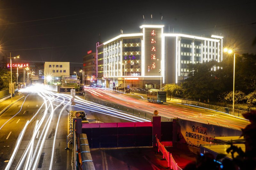
[[[211,111],[204,108],[188,107],[179,103],[164,103],[156,104],[148,102],[145,98],[138,95],[124,94],[123,92],[107,90],[103,88],[85,88],[86,95],[93,98],[108,101],[111,103],[117,103],[126,107],[148,111],[153,113],[154,110],[158,110],[159,115],[163,115],[170,118],[181,118],[185,120],[210,123],[217,126],[241,129],[244,128],[250,122],[248,120],[237,118],[231,115],[227,115],[221,112]]]

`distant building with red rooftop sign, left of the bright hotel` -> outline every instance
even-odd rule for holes
[[[87,55],[83,57],[83,69],[85,85],[96,85],[97,84],[97,66],[96,66],[96,53],[92,50],[87,52]]]

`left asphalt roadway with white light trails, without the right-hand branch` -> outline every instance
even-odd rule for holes
[[[53,93],[42,92],[40,96],[37,92],[23,92],[23,95],[26,97],[1,115],[0,166],[49,169],[51,164],[52,169],[70,169],[68,154],[72,151],[65,150],[69,108],[62,111],[64,104],[60,105],[61,98],[56,95],[54,98]],[[57,123],[61,128],[55,133]]]

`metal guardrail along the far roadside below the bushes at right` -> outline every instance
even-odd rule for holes
[[[208,109],[212,109],[212,110],[216,110],[216,111],[220,111],[220,112],[224,112],[224,113],[233,115],[233,108],[222,107],[222,106],[217,106],[217,105],[210,105],[210,104],[205,104],[205,103],[201,103],[198,101],[190,101],[190,100],[181,100],[181,104],[193,105],[196,107],[204,107],[204,108],[208,108]],[[241,117],[245,113],[247,113],[247,111],[234,109],[234,116]]]

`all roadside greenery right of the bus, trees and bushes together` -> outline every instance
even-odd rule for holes
[[[223,61],[189,64],[188,77],[181,84],[163,86],[167,97],[197,100],[212,105],[232,108],[233,57]],[[235,109],[256,110],[256,55],[236,55]]]

